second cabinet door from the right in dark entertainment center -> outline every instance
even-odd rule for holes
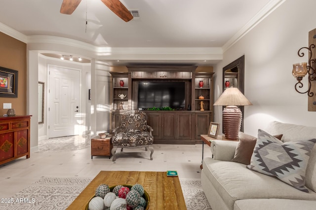
[[[192,135],[192,114],[177,114],[177,140],[191,140]]]

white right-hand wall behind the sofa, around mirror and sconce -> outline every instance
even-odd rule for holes
[[[222,92],[222,68],[245,55],[246,106],[244,132],[257,136],[272,120],[313,126],[316,112],[308,112],[308,95],[294,89],[292,64],[305,61],[297,51],[308,47],[308,33],[316,28],[315,0],[286,0],[253,30],[229,48],[216,66],[215,100]],[[307,83],[305,81],[307,86]],[[215,107],[215,121],[222,121]]]

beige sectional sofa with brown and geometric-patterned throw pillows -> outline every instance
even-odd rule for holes
[[[213,158],[203,159],[201,184],[213,210],[316,210],[316,127],[273,121],[258,138],[239,137],[212,141]]]

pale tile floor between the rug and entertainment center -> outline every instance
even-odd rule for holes
[[[67,145],[63,145],[67,142]],[[49,146],[50,145],[50,146]],[[54,145],[54,146],[53,146]],[[58,145],[61,145],[59,147]],[[71,147],[69,147],[71,145]],[[100,171],[178,171],[180,179],[200,179],[202,145],[157,145],[153,160],[150,150],[117,150],[115,162],[108,157],[91,159],[89,137],[62,137],[42,140],[39,151],[0,165],[0,198],[10,198],[42,176],[95,177]],[[65,149],[66,148],[66,149]],[[210,157],[204,145],[204,157]]]

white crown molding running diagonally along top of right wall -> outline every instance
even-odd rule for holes
[[[262,20],[270,15],[277,7],[279,7],[286,0],[271,0],[267,3],[251,20],[244,25],[228,42],[226,42],[222,49],[223,53],[232,47],[239,39],[246,35],[250,30],[257,26]]]

